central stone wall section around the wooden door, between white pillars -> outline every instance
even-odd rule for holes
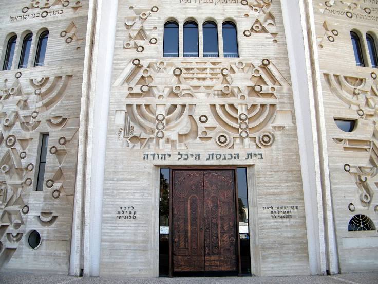
[[[179,58],[162,57],[167,20],[180,24]],[[199,23],[199,58],[182,57],[186,20]],[[219,58],[202,55],[207,20],[218,25]],[[223,58],[226,20],[239,58]],[[100,275],[158,275],[159,168],[188,165],[247,166],[252,273],[309,274],[279,1],[120,0],[114,52]]]

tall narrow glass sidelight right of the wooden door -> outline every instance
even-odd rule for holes
[[[247,168],[237,169],[239,201],[240,270],[241,274],[251,275],[251,250],[247,195]]]

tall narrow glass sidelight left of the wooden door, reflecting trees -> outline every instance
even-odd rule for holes
[[[160,169],[159,275],[169,275],[169,169]]]

